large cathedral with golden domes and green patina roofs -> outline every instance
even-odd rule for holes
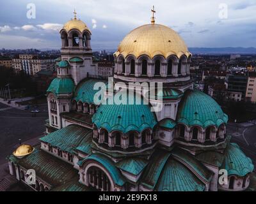
[[[230,143],[228,116],[210,96],[193,90],[186,43],[156,24],[152,12],[150,24],[127,34],[114,54],[114,85],[163,83],[148,92],[148,104],[109,103],[122,87],[111,88],[97,76],[92,32],[75,12],[60,31],[58,75],[47,89],[46,134],[40,145],[22,144],[8,157],[11,175],[35,191],[248,188],[254,166]],[[107,87],[104,103],[95,103],[99,83]],[[144,91],[132,91],[145,97]],[[158,103],[161,109],[152,111]],[[31,184],[28,170],[35,171]]]

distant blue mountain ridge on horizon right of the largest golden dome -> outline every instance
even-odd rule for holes
[[[193,54],[256,54],[255,47],[222,47],[222,48],[205,48],[191,47],[189,52]]]

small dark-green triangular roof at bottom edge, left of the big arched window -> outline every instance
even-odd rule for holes
[[[79,177],[76,179],[70,180],[65,184],[61,184],[60,186],[56,186],[51,191],[91,191],[90,187],[84,186],[78,182]]]

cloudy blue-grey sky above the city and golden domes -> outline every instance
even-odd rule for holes
[[[35,19],[27,18],[29,3]],[[177,31],[188,47],[256,47],[255,0],[8,0],[0,6],[0,48],[60,48],[59,30],[76,8],[92,31],[93,50],[115,50],[132,29],[150,23],[153,4],[156,23]]]

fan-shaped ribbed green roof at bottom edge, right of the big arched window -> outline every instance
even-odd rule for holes
[[[205,185],[188,168],[170,157],[155,191],[204,191],[204,187]]]

